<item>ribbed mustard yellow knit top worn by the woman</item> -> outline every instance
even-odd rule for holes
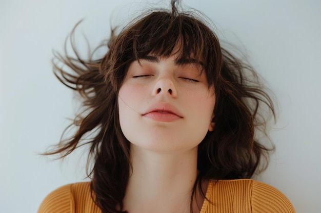
[[[273,186],[251,179],[210,180],[200,213],[292,213],[288,198]],[[92,201],[90,183],[57,188],[42,202],[38,213],[101,213]]]

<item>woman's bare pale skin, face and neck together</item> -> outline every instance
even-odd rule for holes
[[[197,146],[213,130],[215,94],[199,64],[176,62],[175,55],[134,61],[119,90],[133,165],[124,198],[129,212],[190,212]],[[196,212],[203,200],[196,194]]]

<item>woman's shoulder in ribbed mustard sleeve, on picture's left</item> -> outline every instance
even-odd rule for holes
[[[81,208],[79,208],[81,206]],[[44,199],[38,213],[99,212],[91,198],[90,182],[61,186]]]

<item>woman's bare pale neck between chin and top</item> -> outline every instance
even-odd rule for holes
[[[125,210],[130,213],[190,212],[197,177],[197,147],[158,153],[132,145],[131,160]]]

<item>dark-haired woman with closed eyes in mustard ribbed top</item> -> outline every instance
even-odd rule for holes
[[[274,115],[273,103],[197,15],[172,1],[112,33],[108,48],[98,60],[57,55],[74,73],[55,65],[56,76],[87,108],[46,154],[87,144],[93,165],[90,182],[58,188],[38,212],[294,212],[248,179],[269,151],[254,137],[267,123],[258,110]]]

